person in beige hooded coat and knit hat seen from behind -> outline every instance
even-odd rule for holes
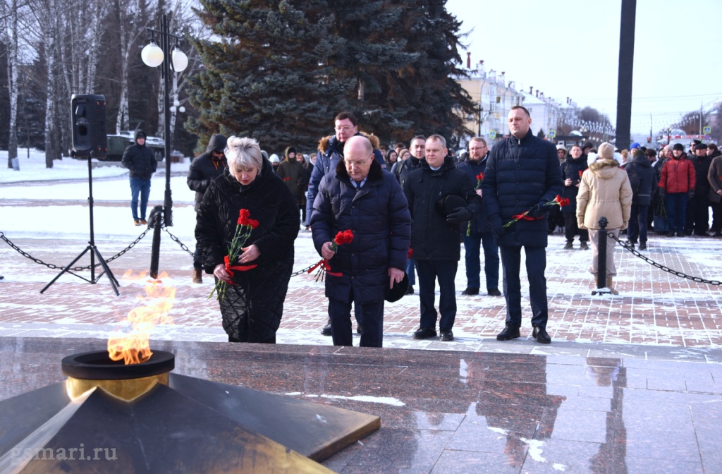
[[[627,228],[632,208],[632,186],[627,171],[619,168],[614,160],[614,146],[609,143],[599,145],[599,155],[594,163],[584,171],[577,194],[577,224],[580,229],[589,230],[592,260],[589,271],[594,275],[599,259],[599,219],[606,217],[607,233],[619,236],[619,230]],[[617,275],[614,265],[614,245],[617,242],[611,238],[606,243],[606,286],[617,295],[614,290],[612,277]]]

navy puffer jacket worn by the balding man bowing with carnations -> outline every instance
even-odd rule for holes
[[[348,301],[373,303],[386,297],[388,268],[406,269],[411,238],[411,215],[396,178],[374,161],[360,190],[351,184],[343,162],[336,173],[321,179],[310,217],[313,245],[333,241],[336,233],[352,230],[350,244],[339,246],[329,260],[332,272],[326,275],[326,296]]]

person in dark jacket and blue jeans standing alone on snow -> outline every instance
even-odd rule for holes
[[[146,225],[146,209],[150,195],[150,178],[158,168],[153,151],[145,146],[146,134],[142,130],[135,133],[135,144],[130,145],[123,152],[123,166],[130,172],[131,183],[131,212],[135,225]],[[168,158],[166,158],[168,159]],[[138,195],[140,194],[140,216],[138,215]]]

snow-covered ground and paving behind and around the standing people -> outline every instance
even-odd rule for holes
[[[20,150],[19,155],[20,169],[14,171],[6,168],[7,152],[0,151],[0,165],[2,165],[0,231],[11,240],[37,239],[37,246],[26,243],[27,251],[33,253],[43,249],[52,262],[66,264],[65,259],[70,255],[68,249],[72,249],[73,254],[75,250],[82,249],[79,244],[82,245],[87,241],[90,230],[87,161],[65,158],[54,162],[53,168],[45,168],[42,152],[31,151],[30,158],[25,158],[25,150]],[[171,163],[173,228],[170,230],[192,250],[196,213],[193,210],[194,193],[186,184],[189,164],[188,158],[183,163]],[[103,250],[105,258],[108,258],[108,254],[129,244],[144,228],[132,224],[128,171],[120,163],[110,166],[103,163],[102,166],[93,168],[92,175],[95,238],[97,241],[102,241],[99,247]],[[164,191],[165,166],[161,164],[158,173],[152,179],[149,209],[153,205],[162,204]],[[179,275],[187,275],[176,283],[183,287],[188,301],[197,301],[193,303],[196,305],[194,311],[197,314],[188,316],[186,323],[180,324],[173,330],[168,329],[166,332],[164,329],[165,336],[176,340],[225,340],[225,335],[217,324],[217,305],[212,304],[213,301],[205,301],[205,295],[210,290],[210,287],[206,288],[207,282],[203,286],[192,286],[191,260],[165,236],[164,239],[162,263],[168,262],[168,259],[175,259],[175,268],[181,272]],[[139,267],[141,265],[145,267],[147,264],[149,240],[149,238],[145,239],[134,252],[128,254],[131,261],[142,260]],[[722,300],[718,296],[719,287],[709,287],[679,279],[645,264],[627,252],[618,260],[620,275],[617,279],[618,285],[626,287],[626,290],[622,292],[622,296],[612,298],[614,303],[609,303],[609,300],[606,303],[597,303],[599,297],[590,295],[591,275],[586,271],[591,254],[583,251],[562,251],[563,241],[563,236],[560,234],[551,236],[547,250],[547,293],[550,311],[555,311],[555,319],[553,321],[550,319],[554,333],[552,337],[558,338],[555,338],[555,341],[628,344],[640,340],[641,336],[644,344],[719,347],[720,331],[714,327],[714,324],[700,329],[695,327],[694,322],[691,327],[687,323],[688,318],[706,317],[705,315],[710,314],[710,306],[715,308],[719,306],[717,302]],[[5,243],[0,241],[0,246],[5,246]],[[670,254],[671,258],[677,259],[678,252],[682,252],[685,264],[692,265],[692,271],[696,276],[718,279],[720,247],[718,239],[662,239],[652,236],[648,255],[661,259],[662,254]],[[302,269],[318,260],[310,233],[299,234],[295,249],[296,269]],[[56,257],[60,254],[66,257],[62,261],[56,261],[58,258],[51,258],[53,251],[57,252]],[[670,264],[677,264],[678,261],[681,262],[681,260],[672,260]],[[113,271],[118,271],[116,264],[122,266],[126,260],[118,262],[113,264]],[[17,264],[11,266],[2,265],[0,262],[0,270],[2,270],[0,275],[4,274],[6,283],[26,283],[30,288],[30,285],[48,283],[54,274],[47,269],[27,271],[28,268],[30,267],[25,259],[20,259]],[[116,276],[120,277],[120,275]],[[60,281],[63,280],[84,285],[71,276],[64,276]],[[664,288],[676,288],[676,290],[671,292],[659,290],[658,288],[661,288],[659,285],[666,285]],[[456,277],[457,294],[461,293],[465,286],[464,259],[461,259]],[[84,293],[90,293],[89,285],[77,288]],[[9,315],[13,311],[27,309],[25,303],[12,303],[16,306],[12,304],[8,306],[4,303],[10,298],[4,298],[3,291],[3,285],[0,283],[0,314]],[[108,290],[104,291],[108,292]],[[483,291],[482,289],[482,293]],[[523,285],[522,291],[526,322],[526,311],[528,311],[528,302],[525,302],[528,298],[526,285]],[[288,301],[287,298],[287,305],[292,308],[290,310],[292,324],[287,329],[284,329],[282,324],[282,329],[279,330],[279,342],[329,344],[329,338],[318,334],[318,327],[326,317],[323,286],[308,277],[294,277],[290,283],[290,294],[292,292],[295,292],[295,295],[302,295],[304,299]],[[36,297],[28,296],[28,298]],[[309,304],[308,298],[312,298],[313,303]],[[108,301],[111,300],[113,298]],[[493,338],[495,332],[503,327],[505,314],[503,298],[459,297],[457,303],[460,316],[457,317],[458,328],[456,325],[454,327],[457,340],[452,344],[441,343],[438,340],[414,341],[409,337],[414,325],[418,324],[417,298],[403,298],[399,303],[389,304],[386,309],[388,324],[385,318],[385,327],[388,327],[384,336],[385,346],[460,350],[480,350],[483,347],[486,350],[490,341],[496,342]],[[120,303],[106,304],[112,306]],[[12,309],[8,310],[8,308]],[[609,315],[616,319],[610,321],[605,316],[605,311],[609,311]],[[710,317],[714,318],[714,314],[719,311],[718,309],[712,311]],[[627,313],[635,319],[627,318],[625,321],[623,315]],[[30,317],[32,319],[33,316]],[[54,319],[51,322],[22,321],[0,327],[0,335],[22,333],[58,337],[101,337],[100,334],[108,329],[103,324],[76,323],[77,321],[72,318]],[[630,331],[630,328],[633,330]],[[680,334],[682,334],[681,338]],[[508,350],[507,348],[509,345],[503,350]]]

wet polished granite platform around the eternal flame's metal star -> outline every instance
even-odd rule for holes
[[[60,382],[64,355],[103,346],[0,338],[0,399]],[[177,374],[380,416],[380,431],[323,462],[341,473],[710,473],[722,465],[716,363],[224,342],[152,348],[175,353]]]

